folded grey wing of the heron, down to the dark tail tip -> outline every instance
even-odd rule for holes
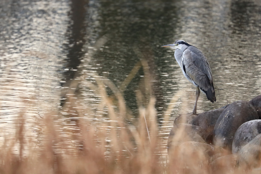
[[[181,61],[186,74],[206,93],[207,99],[216,101],[211,69],[203,53],[189,46],[183,51]]]

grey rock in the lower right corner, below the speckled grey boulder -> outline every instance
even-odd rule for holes
[[[247,143],[238,152],[238,164],[245,167],[260,167],[261,165],[261,134]]]

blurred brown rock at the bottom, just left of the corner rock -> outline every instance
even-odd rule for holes
[[[225,155],[211,163],[212,173],[231,173],[236,167],[236,154]]]

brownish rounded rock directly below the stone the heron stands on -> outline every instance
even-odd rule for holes
[[[206,143],[203,139],[205,134],[205,129],[192,124],[175,125],[169,133],[167,144],[168,152],[170,151],[171,147],[179,146],[181,143],[186,141]]]

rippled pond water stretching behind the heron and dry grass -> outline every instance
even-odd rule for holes
[[[183,76],[173,50],[161,45],[183,39],[207,57],[217,102],[201,93],[199,113],[251,100],[261,93],[260,13],[260,1],[250,0],[1,1],[0,137],[12,139],[19,115],[35,142],[41,132],[37,123],[46,115],[60,120],[65,137],[76,134],[78,119],[110,129],[108,109],[94,89],[97,78],[109,79],[124,94],[134,116],[126,121],[132,124],[139,112],[137,90],[148,92],[141,60],[147,63],[165,142],[174,118],[193,110],[196,88]]]

